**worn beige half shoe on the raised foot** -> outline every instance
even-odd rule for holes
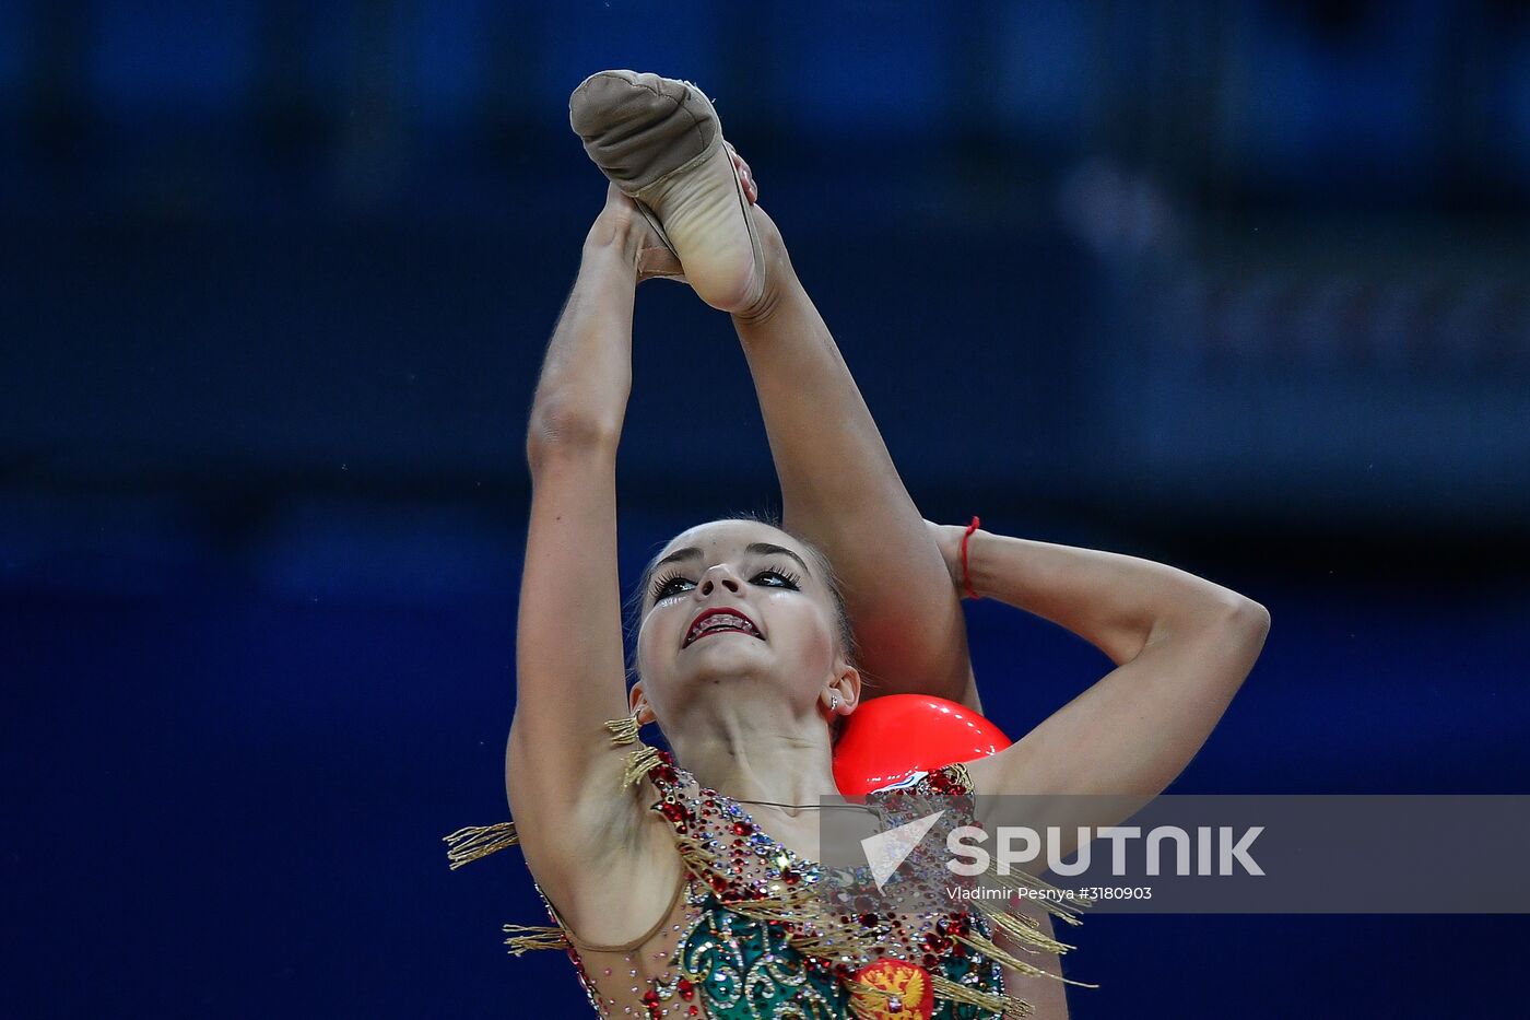
[[[737,312],[760,299],[759,234],[718,112],[701,89],[653,74],[601,70],[574,89],[569,124],[675,253],[704,302]]]

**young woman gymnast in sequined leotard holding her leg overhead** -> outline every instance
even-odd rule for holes
[[[1268,614],[1161,564],[985,531],[964,570],[964,528],[927,524],[904,492],[707,98],[603,72],[571,113],[612,184],[528,429],[516,827],[456,833],[454,862],[519,835],[555,925],[509,927],[509,943],[566,948],[600,1015],[996,1017],[1025,1009],[1021,992],[1037,1015],[1065,1015],[1060,983],[1024,959],[1066,948],[1034,917],[835,914],[814,899],[812,809],[835,793],[837,721],[874,692],[978,708],[959,593],[991,596],[1117,668],[1007,750],[920,776],[916,792],[1151,796],[1204,743]],[[641,279],[681,273],[733,315],[785,519],[713,521],[666,545],[640,593],[629,689],[615,455],[632,306]],[[678,414],[715,414],[701,383]],[[638,740],[647,723],[673,757]]]

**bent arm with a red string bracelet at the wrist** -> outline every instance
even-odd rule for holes
[[[935,530],[959,571],[964,528]],[[1161,793],[1206,743],[1270,631],[1258,602],[1135,556],[979,530],[967,565],[979,596],[1065,626],[1117,665],[1007,750],[968,763],[984,793]]]

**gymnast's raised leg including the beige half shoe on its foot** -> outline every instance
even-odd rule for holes
[[[878,692],[924,691],[976,706],[961,605],[935,539],[780,233],[751,205],[753,182],[745,185],[747,167],[722,139],[711,101],[685,81],[603,70],[569,96],[569,124],[606,178],[662,224],[696,294],[734,315],[785,524],[834,562],[861,671]],[[825,407],[837,417],[828,433]]]

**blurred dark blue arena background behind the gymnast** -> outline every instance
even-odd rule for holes
[[[601,67],[716,98],[926,516],[1271,610],[1172,790],[1527,792],[1522,5],[14,0],[6,1015],[588,1011],[502,954],[519,856],[439,838],[505,815]],[[776,501],[727,319],[655,283],[635,349],[629,579]],[[1011,734],[1109,666],[970,622]],[[1080,1020],[1524,1012],[1524,917],[1076,934]]]

